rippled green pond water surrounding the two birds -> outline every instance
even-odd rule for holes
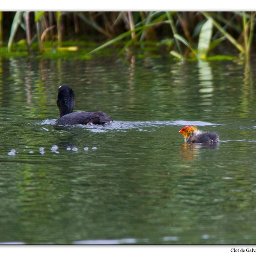
[[[0,243],[255,244],[256,63],[0,60]],[[56,126],[58,87],[104,126]],[[187,124],[216,131],[184,144]]]

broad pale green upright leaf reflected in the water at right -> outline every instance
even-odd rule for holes
[[[202,26],[199,34],[198,55],[200,59],[206,59],[212,37],[212,19],[209,18]]]

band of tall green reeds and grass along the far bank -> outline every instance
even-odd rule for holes
[[[88,54],[118,41],[125,41],[121,52],[132,45],[140,47],[141,42],[162,41],[163,44],[168,42],[166,47],[175,58],[194,56],[197,60],[207,59],[209,54],[213,54],[213,49],[224,41],[229,41],[238,54],[249,59],[256,16],[256,12],[18,11],[3,31],[1,24],[11,14],[0,12],[0,41],[8,34],[9,51],[14,39],[22,39],[22,33],[30,53],[36,39],[38,51],[43,51],[44,41],[57,41],[61,47],[63,40],[85,38],[87,35],[100,41],[100,46]]]

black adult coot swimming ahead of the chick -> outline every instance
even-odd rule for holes
[[[110,117],[102,111],[97,112],[73,112],[74,92],[73,90],[62,85],[59,87],[57,106],[60,109],[60,119],[56,124],[104,124],[112,122]]]

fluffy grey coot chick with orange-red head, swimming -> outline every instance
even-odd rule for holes
[[[215,132],[202,132],[198,130],[194,126],[186,125],[183,127],[179,133],[185,139],[185,142],[192,142],[192,143],[215,143],[219,142],[219,135]]]

